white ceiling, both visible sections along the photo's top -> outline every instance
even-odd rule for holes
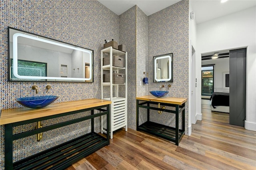
[[[115,14],[120,15],[137,5],[147,16],[154,14],[180,0],[98,0]],[[196,23],[206,22],[214,18],[256,6],[256,0],[191,0]]]

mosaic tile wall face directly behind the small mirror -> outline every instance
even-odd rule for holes
[[[148,16],[148,91],[169,91],[167,97],[188,99],[188,0],[182,0]],[[153,57],[173,53],[173,83],[153,83]],[[168,84],[171,85],[168,90]],[[148,93],[150,95],[150,93]],[[185,111],[185,132],[188,133],[188,102]],[[152,111],[154,112],[154,111]],[[156,112],[156,111],[155,111]],[[181,117],[181,116],[180,116]],[[175,116],[152,114],[151,121],[175,127]],[[181,125],[180,125],[181,127]]]

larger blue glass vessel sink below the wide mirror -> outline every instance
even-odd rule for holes
[[[56,101],[56,99],[58,99],[58,96],[35,96],[21,97],[16,99],[16,101],[25,107],[39,109],[50,105],[52,102]]]

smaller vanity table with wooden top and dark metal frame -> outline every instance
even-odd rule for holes
[[[141,102],[140,102],[141,101]],[[136,97],[136,130],[148,132],[166,140],[175,142],[178,146],[182,136],[185,134],[185,103],[187,99],[154,96]],[[152,107],[150,104],[174,107],[175,110]],[[139,125],[139,108],[147,109],[147,121]],[[150,121],[150,109],[175,114],[175,128]],[[179,129],[179,114],[182,112],[182,129]]]

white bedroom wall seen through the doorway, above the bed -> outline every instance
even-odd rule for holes
[[[208,64],[214,64],[214,91],[223,89],[223,73],[229,72],[229,57],[202,61],[202,65]]]

